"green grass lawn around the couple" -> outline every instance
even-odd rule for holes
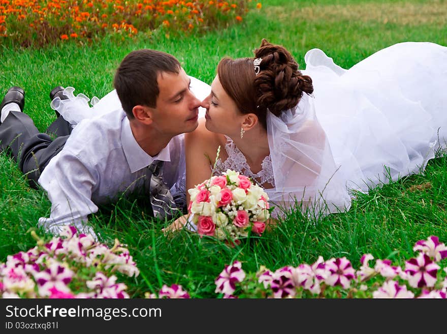
[[[139,48],[170,52],[188,74],[210,83],[221,57],[251,56],[262,38],[287,47],[302,68],[305,52],[314,47],[350,68],[402,41],[447,45],[444,1],[262,3],[262,10],[252,10],[241,24],[203,36],[104,38],[89,46],[58,43],[43,49],[4,46],[0,49],[0,92],[11,85],[22,86],[25,112],[43,131],[55,117],[49,107],[52,87],[71,85],[76,93],[101,98],[113,88],[113,74],[121,59]],[[402,261],[413,255],[412,246],[419,239],[437,235],[446,242],[446,171],[447,158],[439,155],[429,162],[424,175],[405,177],[361,195],[346,213],[316,223],[290,214],[277,229],[244,240],[236,248],[186,232],[166,237],[161,232],[165,223],[147,217],[144,198],[102,207],[90,223],[108,244],[117,237],[129,246],[142,272],[136,279],[125,279],[131,296],[142,297],[162,284],[178,283],[193,297],[215,297],[214,279],[234,259],[249,271],[260,265],[276,269],[311,263],[318,255],[325,259],[346,256],[358,267],[364,253]],[[417,185],[429,186],[411,188]],[[35,245],[27,231],[37,226],[39,217],[48,216],[49,208],[45,193],[30,189],[17,164],[0,154],[0,261]]]

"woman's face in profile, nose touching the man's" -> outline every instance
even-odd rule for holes
[[[225,92],[216,76],[211,84],[211,93],[202,101],[206,108],[205,127],[212,132],[222,133],[230,137],[240,133],[243,115],[236,103]]]

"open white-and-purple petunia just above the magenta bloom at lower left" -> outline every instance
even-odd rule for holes
[[[71,292],[67,284],[71,282],[73,275],[72,270],[62,266],[59,262],[49,261],[46,269],[34,274],[34,279],[39,287],[39,295],[50,295],[52,287],[58,291]]]

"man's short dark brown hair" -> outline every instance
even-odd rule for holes
[[[113,85],[122,108],[130,119],[136,105],[156,107],[159,94],[157,76],[162,72],[180,73],[181,65],[169,53],[140,49],[127,54],[115,73]]]

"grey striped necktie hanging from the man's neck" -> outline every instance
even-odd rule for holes
[[[149,165],[152,175],[150,177],[150,203],[155,218],[171,220],[177,205],[163,180],[163,161],[154,160]]]

